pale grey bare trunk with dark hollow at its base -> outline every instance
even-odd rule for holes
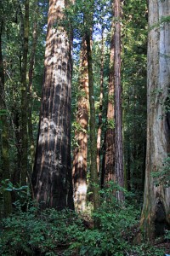
[[[162,235],[170,224],[170,188],[156,186],[151,172],[161,171],[170,152],[170,129],[165,104],[170,81],[170,24],[160,23],[170,2],[149,1],[147,148],[141,229],[147,239]]]

